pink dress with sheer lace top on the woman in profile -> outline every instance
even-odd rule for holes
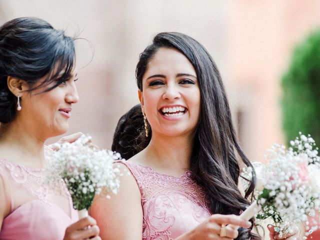
[[[77,220],[63,183],[61,191],[48,189],[43,184],[43,172],[0,158],[0,177],[5,189],[0,194],[5,194],[10,205],[10,212],[2,222],[0,240],[62,240],[66,227]]]

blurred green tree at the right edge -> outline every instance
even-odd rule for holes
[[[282,124],[289,144],[298,132],[311,134],[320,145],[320,29],[293,51],[282,77]]]

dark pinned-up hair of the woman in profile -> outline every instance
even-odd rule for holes
[[[72,73],[73,40],[36,17],[19,17],[0,26],[0,122],[10,122],[16,115],[16,97],[7,87],[7,76],[26,81],[29,91],[55,82],[44,91],[53,89]],[[33,87],[35,83],[39,84]]]

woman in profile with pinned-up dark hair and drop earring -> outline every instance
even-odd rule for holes
[[[44,141],[66,132],[78,101],[73,40],[35,17],[0,26],[0,239],[100,239],[62,183],[42,184]]]

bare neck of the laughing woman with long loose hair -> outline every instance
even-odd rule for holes
[[[152,132],[152,138],[145,148],[147,165],[162,171],[184,172],[190,167],[194,135],[165,136]],[[179,173],[177,173],[179,174]]]

